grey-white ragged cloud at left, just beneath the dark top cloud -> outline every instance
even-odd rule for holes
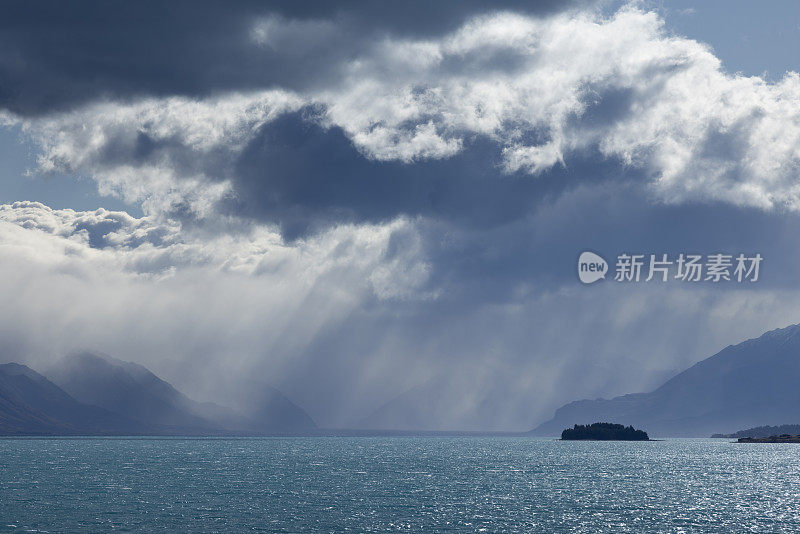
[[[150,98],[33,120],[6,116],[5,124],[20,124],[41,147],[41,172],[87,174],[101,194],[142,203],[151,214],[180,205],[202,217],[232,194],[230,160],[261,125],[301,103],[283,91]]]

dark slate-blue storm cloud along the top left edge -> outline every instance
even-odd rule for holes
[[[97,98],[202,97],[220,91],[324,84],[339,60],[381,34],[431,35],[465,18],[546,13],[579,2],[12,1],[0,17],[0,107],[38,115]],[[259,47],[260,17],[334,22]],[[324,37],[324,38],[320,38]]]

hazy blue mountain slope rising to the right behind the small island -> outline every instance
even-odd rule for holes
[[[781,424],[800,415],[800,325],[728,346],[649,393],[580,400],[531,431],[557,436],[574,424],[613,421],[651,436],[708,437]]]

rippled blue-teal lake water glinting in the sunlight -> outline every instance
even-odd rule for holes
[[[800,531],[800,445],[0,439],[0,531]]]

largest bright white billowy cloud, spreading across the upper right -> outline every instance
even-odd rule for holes
[[[497,139],[507,171],[598,150],[645,169],[668,202],[800,209],[800,77],[725,73],[655,13],[477,18],[438,41],[382,43],[322,99],[331,123],[380,159],[450,155],[409,142],[426,121],[442,147]]]

